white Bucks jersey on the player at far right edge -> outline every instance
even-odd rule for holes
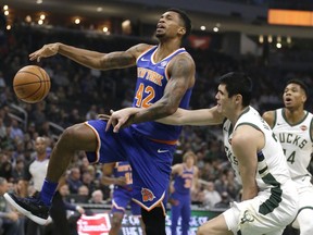
[[[275,111],[273,132],[283,146],[293,180],[304,175],[311,175],[308,166],[313,151],[311,136],[312,120],[313,114],[305,111],[303,120],[296,124],[289,124],[285,116],[284,109]]]

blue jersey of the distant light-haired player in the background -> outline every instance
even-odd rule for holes
[[[187,169],[184,164],[184,170],[181,175],[176,175],[174,178],[174,188],[177,194],[190,194],[190,188],[192,186],[193,178],[193,166]]]

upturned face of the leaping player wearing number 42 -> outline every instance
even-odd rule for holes
[[[165,12],[161,15],[158,25],[155,36],[161,39],[164,37],[175,38],[178,34],[184,32],[183,23],[177,12]]]

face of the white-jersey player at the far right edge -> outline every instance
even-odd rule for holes
[[[283,100],[286,108],[297,108],[304,104],[306,97],[298,84],[291,83],[286,86]]]

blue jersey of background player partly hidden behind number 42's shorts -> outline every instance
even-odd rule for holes
[[[127,184],[125,186],[114,185],[114,189],[117,189],[117,188],[127,189],[127,190],[133,189],[133,175],[132,175],[132,168],[130,168],[129,162],[127,161],[116,162],[113,174],[114,174],[114,177],[125,177],[126,184]]]

